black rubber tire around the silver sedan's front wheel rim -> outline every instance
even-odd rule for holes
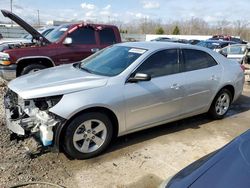
[[[99,148],[97,150],[93,152],[85,153],[85,152],[80,152],[75,147],[74,143],[76,144],[76,142],[73,141],[73,138],[74,138],[76,131],[79,130],[80,127],[82,127],[81,124],[89,120],[93,120],[93,121],[98,120],[105,125],[106,138],[103,139],[104,140],[103,144],[100,147],[98,146]],[[93,125],[91,126],[93,127]],[[86,130],[84,130],[84,133],[85,131]],[[112,126],[110,119],[107,117],[107,115],[99,113],[99,112],[90,112],[90,113],[81,114],[80,116],[77,116],[75,119],[73,119],[66,128],[64,140],[63,140],[64,152],[66,153],[66,155],[68,155],[69,157],[73,159],[88,159],[88,158],[95,157],[99,155],[100,153],[102,153],[107,148],[107,146],[111,142],[112,135],[113,135],[113,126]],[[83,142],[85,142],[85,139],[83,140]],[[91,142],[93,141],[91,140]]]

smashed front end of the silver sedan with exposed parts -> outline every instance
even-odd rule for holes
[[[54,145],[56,129],[65,120],[49,109],[61,98],[62,95],[26,100],[8,90],[4,98],[8,129],[20,137],[34,136],[43,146]]]

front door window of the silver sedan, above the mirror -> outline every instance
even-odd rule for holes
[[[152,77],[178,73],[179,64],[177,50],[169,49],[156,52],[144,61],[136,72],[149,74]]]

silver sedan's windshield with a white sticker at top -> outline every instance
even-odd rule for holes
[[[80,68],[104,76],[115,76],[123,72],[146,50],[125,46],[112,46],[84,59]]]

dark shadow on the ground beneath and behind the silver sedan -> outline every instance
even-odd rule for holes
[[[250,97],[242,95],[235,103],[231,105],[225,118],[235,116],[248,110],[250,110]],[[125,136],[121,136],[113,141],[113,143],[107,149],[106,153],[120,150],[122,148],[138,144],[140,142],[151,140],[163,135],[175,133],[185,129],[199,129],[201,126],[212,121],[214,120],[212,120],[208,114],[201,114],[172,123],[167,123],[146,130],[131,133]]]

